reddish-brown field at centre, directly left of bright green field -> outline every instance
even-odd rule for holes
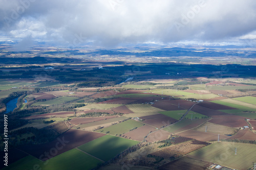
[[[153,119],[147,119],[144,120],[143,123],[160,128],[166,125],[170,125],[171,123],[175,123],[177,122],[176,119],[172,118],[172,117],[160,117],[160,118],[153,118]]]

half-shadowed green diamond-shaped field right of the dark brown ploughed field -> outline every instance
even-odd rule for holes
[[[101,160],[108,161],[125,149],[139,143],[112,135],[105,135],[78,147],[78,149]]]

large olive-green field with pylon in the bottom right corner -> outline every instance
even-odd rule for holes
[[[237,148],[237,155],[234,150]],[[256,162],[256,145],[233,142],[216,142],[191,154],[200,160],[218,163],[234,169],[248,169]]]

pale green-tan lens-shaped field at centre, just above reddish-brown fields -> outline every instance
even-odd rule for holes
[[[143,104],[132,104],[132,105],[125,105],[128,109],[133,111],[134,113],[144,113],[144,112],[158,112],[163,111],[162,109],[158,109],[151,105],[143,105]]]

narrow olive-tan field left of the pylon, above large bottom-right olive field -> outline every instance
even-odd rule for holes
[[[208,133],[208,132],[200,132],[194,130],[187,130],[185,132],[178,133],[179,136],[188,137],[197,139],[200,141],[211,141],[211,140],[218,140],[218,134],[215,133]],[[220,139],[227,138],[226,135],[220,135]]]

